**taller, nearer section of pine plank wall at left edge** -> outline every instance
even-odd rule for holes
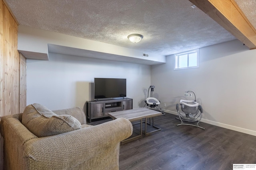
[[[0,116],[4,116],[19,113],[20,56],[17,50],[18,24],[3,1],[0,8]]]

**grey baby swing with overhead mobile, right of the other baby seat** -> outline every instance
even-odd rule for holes
[[[181,110],[184,112],[179,111],[179,104],[176,104],[176,110],[178,112],[178,116],[176,119],[179,119],[181,121],[179,125],[191,125],[191,126],[196,126],[201,129],[205,129],[204,127],[200,127],[198,123],[202,119],[202,113],[203,113],[203,108],[196,102],[196,95],[192,91],[186,91],[185,92],[185,97],[188,97],[188,94],[190,94],[190,97],[192,97],[192,93],[195,96],[195,100],[180,100],[180,106]],[[184,123],[183,121],[186,122],[197,122],[196,125],[190,124],[190,123]]]

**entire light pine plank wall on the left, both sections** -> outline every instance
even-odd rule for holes
[[[0,2],[0,117],[22,113],[26,107],[26,58],[18,52],[18,23]],[[0,120],[1,121],[1,120]],[[3,139],[0,136],[0,170]]]

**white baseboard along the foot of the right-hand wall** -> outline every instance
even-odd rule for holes
[[[178,115],[178,113],[176,111],[171,111],[171,110],[166,110],[166,109],[162,109],[162,111],[164,111],[166,113]],[[210,125],[215,125],[215,126],[218,126],[218,127],[224,127],[226,129],[230,129],[230,130],[233,130],[233,131],[238,131],[238,132],[242,132],[242,133],[246,133],[246,134],[249,134],[249,135],[256,136],[256,131],[252,131],[252,130],[249,130],[249,129],[244,129],[244,128],[241,128],[241,127],[227,125],[227,124],[224,124],[224,123],[219,123],[219,122],[211,121],[211,120],[207,120],[207,119],[201,119],[201,121],[204,122],[204,123],[208,123]]]

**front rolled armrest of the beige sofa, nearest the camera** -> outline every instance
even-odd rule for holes
[[[60,135],[31,139],[24,157],[29,169],[116,169],[120,141],[132,135],[128,119],[118,118],[100,125]]]

